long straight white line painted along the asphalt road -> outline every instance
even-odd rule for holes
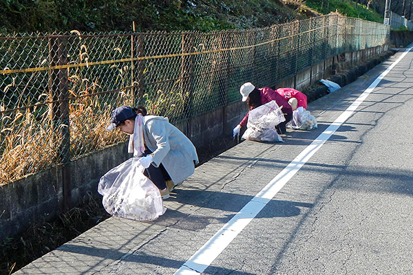
[[[304,151],[302,151],[293,162],[290,162],[284,170],[282,170],[273,180],[271,180],[258,194],[251,199],[244,208],[240,210],[235,216],[226,223],[218,232],[213,235],[207,243],[202,245],[200,248],[191,258],[184,263],[179,270],[175,272],[175,274],[200,274],[204,272],[209,265],[211,265],[212,261],[221,254],[222,251],[235,239],[237,234],[240,232],[252,221],[255,216],[266,206],[268,201],[273,199],[273,197],[284,187],[284,185],[298,172],[298,170],[308,162],[308,159],[312,157],[315,152],[318,151],[319,148],[326,142],[335,131],[350,118],[350,115],[354,113],[354,111],[359,107],[361,102],[367,98],[367,96],[373,91],[375,87],[380,83],[380,81],[385,77],[388,72],[404,56],[412,50],[413,47],[407,49],[388,69],[386,69],[381,75],[376,78],[373,83],[363,91],[363,94],[355,100],[346,111],[343,111],[339,117],[328,126],[328,128],[321,133],[310,145],[308,145]]]

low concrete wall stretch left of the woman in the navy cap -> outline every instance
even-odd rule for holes
[[[118,144],[72,162],[72,203],[97,195],[100,177],[127,159]],[[61,167],[53,167],[0,187],[0,241],[16,236],[31,223],[51,221],[63,210]]]

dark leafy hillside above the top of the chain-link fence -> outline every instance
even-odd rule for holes
[[[260,28],[336,11],[348,17],[383,22],[383,1],[7,0],[0,6],[0,30],[3,33],[129,32],[135,22],[137,32],[207,32]]]

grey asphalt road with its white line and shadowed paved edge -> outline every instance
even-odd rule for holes
[[[16,274],[413,274],[403,52],[310,103],[318,129],[242,142],[199,166],[156,221],[107,219]]]

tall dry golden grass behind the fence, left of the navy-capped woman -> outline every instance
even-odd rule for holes
[[[81,63],[89,58],[89,55],[86,45],[81,44],[78,55],[74,55],[71,62]],[[123,73],[122,70],[119,71],[120,76]],[[19,94],[13,106],[19,111],[7,113],[0,120],[0,186],[67,161],[64,155],[67,153],[67,146],[63,144],[66,142],[63,137],[67,126],[70,132],[71,160],[110,144],[125,141],[125,135],[118,131],[106,131],[106,127],[113,106],[132,101],[130,91],[100,94],[103,88],[100,87],[98,78],[89,80],[87,69],[76,67],[68,69],[67,74],[69,125],[67,118],[60,120],[58,115],[54,115],[53,111],[61,108],[61,102],[54,101],[56,99],[52,98],[50,92],[43,91],[34,106],[30,106],[30,102],[34,100],[21,100],[23,96],[30,95],[31,91],[44,88],[29,87],[29,83],[17,85],[19,80],[25,79],[23,77],[13,78],[12,85],[6,87],[23,88],[12,91],[14,95]],[[34,75],[32,74],[32,77]],[[33,86],[49,87],[40,78],[35,83]],[[117,84],[125,86],[125,83]],[[7,111],[4,106],[0,106],[0,109]]]

